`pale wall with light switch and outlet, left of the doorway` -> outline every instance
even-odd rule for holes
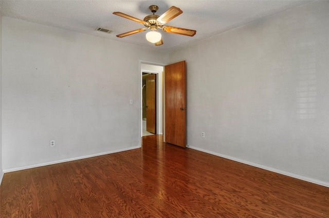
[[[165,53],[8,17],[2,34],[5,172],[140,147],[139,60]]]

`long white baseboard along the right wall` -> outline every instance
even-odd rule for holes
[[[196,147],[193,147],[193,146],[188,146],[188,147],[191,148],[191,149],[194,149],[194,150],[198,150],[198,151],[202,151],[202,152],[205,152],[205,153],[220,156],[220,157],[223,157],[223,158],[226,158],[226,159],[229,159],[229,160],[232,160],[232,161],[240,162],[240,163],[243,163],[243,164],[247,164],[247,165],[250,165],[250,166],[253,166],[253,167],[258,167],[258,168],[261,168],[261,169],[264,169],[264,170],[268,170],[268,171],[280,173],[280,174],[283,174],[283,175],[287,175],[287,176],[290,176],[290,177],[294,177],[296,179],[303,180],[303,181],[306,181],[306,182],[310,182],[310,183],[314,183],[314,184],[317,184],[317,185],[329,187],[329,183],[326,183],[326,182],[323,182],[323,181],[320,181],[320,180],[311,179],[311,178],[306,177],[306,176],[286,172],[286,171],[279,170],[279,169],[272,168],[272,167],[267,167],[267,166],[264,166],[264,165],[261,165],[261,164],[255,164],[255,163],[252,163],[252,162],[249,162],[249,161],[241,160],[239,158],[235,158],[235,157],[231,157],[231,156],[228,156],[228,155],[225,155],[225,154],[220,154],[220,153],[208,151],[208,150],[201,149],[201,148],[196,148]]]

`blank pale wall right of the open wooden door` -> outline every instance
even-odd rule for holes
[[[313,2],[172,52],[187,61],[188,145],[329,186],[328,11]]]

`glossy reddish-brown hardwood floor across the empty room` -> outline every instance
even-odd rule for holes
[[[329,217],[329,188],[142,137],[142,148],[5,173],[0,217]]]

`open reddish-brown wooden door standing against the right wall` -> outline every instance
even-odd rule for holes
[[[165,66],[166,142],[186,147],[185,61]]]

